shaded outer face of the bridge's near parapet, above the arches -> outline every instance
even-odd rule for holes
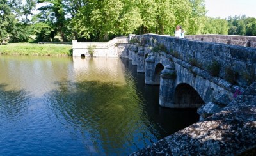
[[[149,47],[165,47],[166,54],[246,88],[256,77],[256,48],[212,43],[163,35],[137,35]],[[214,75],[214,73],[218,73]]]

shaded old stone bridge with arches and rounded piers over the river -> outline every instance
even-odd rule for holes
[[[255,81],[255,48],[152,34],[131,42],[129,59],[145,84],[160,85],[163,107],[204,105],[198,113],[206,118]]]

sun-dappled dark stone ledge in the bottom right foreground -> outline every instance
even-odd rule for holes
[[[220,113],[131,155],[239,155],[256,148],[256,82]]]

